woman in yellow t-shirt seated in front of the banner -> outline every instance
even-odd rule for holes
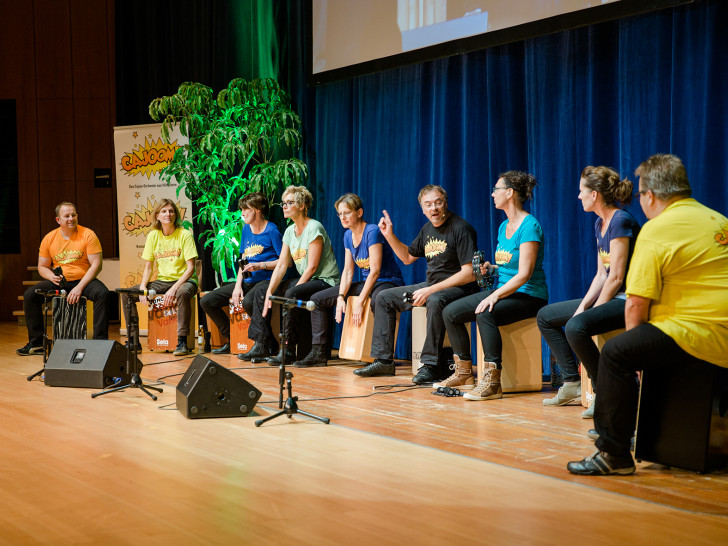
[[[182,218],[177,205],[169,199],[162,199],[152,213],[154,224],[147,235],[142,259],[144,272],[142,282],[134,288],[152,289],[157,294],[164,294],[164,306],[177,306],[177,348],[175,356],[189,353],[187,336],[189,335],[190,300],[197,294],[197,276],[195,275],[195,258],[197,249],[189,231],[182,227]],[[149,281],[152,266],[157,263],[157,279]],[[126,323],[129,324],[129,311],[126,305],[127,294],[122,294],[122,306]],[[134,297],[134,296],[132,296]],[[146,296],[139,296],[139,301],[147,303]],[[137,347],[141,349],[141,347]]]

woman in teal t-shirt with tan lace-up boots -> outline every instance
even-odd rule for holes
[[[508,171],[493,188],[495,208],[506,213],[498,229],[495,264],[485,262],[483,275],[498,275],[495,290],[480,292],[452,302],[442,318],[455,354],[455,373],[437,386],[472,385],[475,381],[470,356],[470,336],[465,325],[475,320],[483,345],[485,373],[468,400],[492,400],[503,397],[500,384],[502,349],[499,326],[529,317],[548,302],[546,275],[543,271],[543,230],[523,204],[531,199],[536,179],[527,173]]]

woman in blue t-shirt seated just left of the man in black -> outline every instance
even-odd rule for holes
[[[385,288],[402,286],[402,272],[394,258],[394,252],[377,224],[364,221],[364,209],[361,198],[347,193],[337,199],[334,204],[339,214],[344,233],[346,258],[341,274],[341,284],[321,290],[311,296],[316,309],[311,312],[311,331],[313,340],[311,352],[294,366],[326,366],[326,339],[328,330],[328,310],[336,305],[336,322],[346,310],[346,298],[359,296],[352,308],[354,325],[361,324],[366,298],[370,298],[370,306],[374,312],[377,294]],[[355,266],[361,271],[363,280],[353,282]]]

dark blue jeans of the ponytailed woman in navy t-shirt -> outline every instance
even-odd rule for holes
[[[581,361],[596,391],[599,349],[592,336],[624,328],[624,300],[615,298],[574,316],[580,303],[581,299],[547,305],[538,312],[538,329],[556,356],[564,381],[579,381]]]

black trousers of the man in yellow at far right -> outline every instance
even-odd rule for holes
[[[637,372],[682,367],[688,362],[705,363],[651,324],[641,324],[607,341],[599,359],[599,396],[594,405],[597,448],[615,457],[629,457],[637,424]]]

